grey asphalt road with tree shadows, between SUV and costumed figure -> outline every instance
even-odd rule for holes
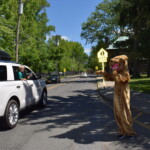
[[[134,124],[135,140],[118,140],[113,110],[95,78],[48,85],[48,106],[22,112],[16,128],[0,128],[0,150],[149,150],[150,131]]]

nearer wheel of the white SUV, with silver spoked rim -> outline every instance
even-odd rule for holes
[[[19,106],[15,100],[10,100],[7,104],[4,115],[4,128],[14,128],[19,119]]]

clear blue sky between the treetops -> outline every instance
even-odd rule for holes
[[[48,24],[54,25],[56,30],[52,34],[81,43],[89,55],[92,45],[85,45],[86,41],[81,39],[81,25],[86,22],[101,0],[48,0],[48,2],[51,5],[47,8]]]

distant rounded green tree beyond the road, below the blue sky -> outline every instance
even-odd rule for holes
[[[59,39],[59,46],[55,44],[55,38],[48,41],[49,56],[53,62],[57,62],[60,71],[80,71],[85,68],[87,55],[82,45],[74,41]]]

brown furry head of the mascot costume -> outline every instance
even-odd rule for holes
[[[110,60],[110,68],[118,71],[128,70],[128,57],[126,55],[119,55]]]

